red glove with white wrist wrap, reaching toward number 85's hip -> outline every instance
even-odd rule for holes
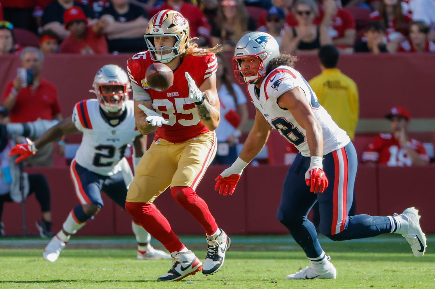
[[[225,171],[215,179],[216,185],[214,190],[218,190],[219,194],[226,196],[228,193],[232,195],[236,189],[237,183],[240,180],[241,174],[244,168],[248,165],[247,162],[241,158],[237,158],[236,161],[228,167]]]

